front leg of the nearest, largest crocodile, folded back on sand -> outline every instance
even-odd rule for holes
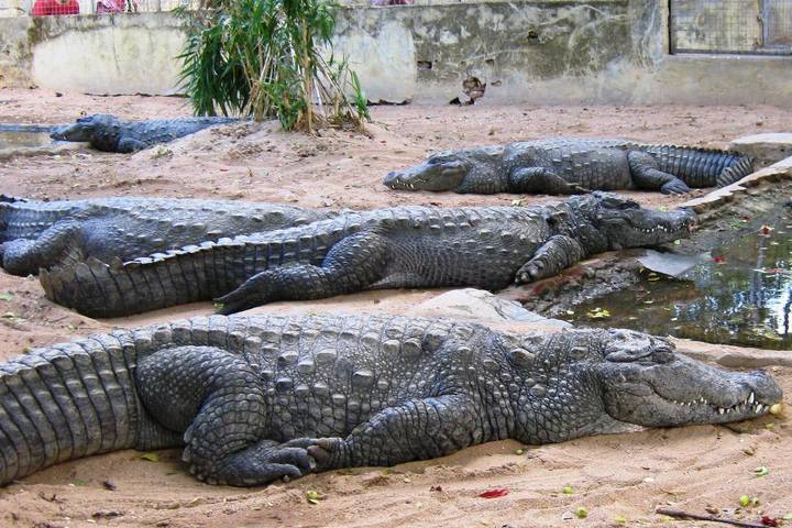
[[[358,426],[346,438],[320,438],[308,447],[319,471],[395,465],[451,454],[490,440],[468,396],[410,399]]]

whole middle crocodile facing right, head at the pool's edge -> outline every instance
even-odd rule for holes
[[[535,207],[396,207],[187,246],[123,263],[43,272],[47,298],[116,317],[218,298],[231,314],[363,289],[475,286],[556,275],[587,255],[690,233],[690,210],[652,211],[607,193]]]

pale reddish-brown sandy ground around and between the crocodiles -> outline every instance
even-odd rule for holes
[[[143,119],[186,116],[184,99],[56,97],[1,90],[0,122],[64,123],[85,113]],[[132,156],[81,151],[0,162],[0,193],[31,198],[87,196],[217,197],[372,208],[399,204],[508,205],[548,197],[393,193],[389,169],[428,152],[554,134],[726,146],[733,138],[784,131],[792,111],[772,107],[376,107],[371,136],[328,131],[311,139],[274,125],[210,130]],[[703,191],[696,191],[702,194]],[[680,198],[632,195],[672,207]],[[0,359],[26,348],[195,314],[208,304],[97,321],[43,298],[34,278],[0,272]],[[381,292],[342,300],[275,304],[261,311],[322,309],[404,311],[436,292]],[[339,308],[343,307],[343,308]],[[788,396],[792,369],[772,367]],[[177,451],[158,462],[123,451],[52,468],[0,491],[0,526],[704,526],[673,522],[658,506],[707,509],[758,521],[792,512],[792,436],[785,418],[734,427],[691,427],[575,440],[527,449],[495,442],[452,457],[383,471],[310,475],[257,490],[212,487],[193,480]],[[757,477],[755,469],[769,475]],[[110,482],[108,490],[105,485]],[[563,494],[564,486],[573,488]],[[479,494],[507,488],[507,496]],[[308,491],[322,496],[306,501]],[[759,498],[739,508],[740,495]],[[571,513],[588,512],[585,519]],[[715,526],[715,525],[713,525]]]

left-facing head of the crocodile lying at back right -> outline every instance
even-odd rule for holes
[[[392,189],[472,193],[480,184],[496,185],[502,155],[502,146],[438,152],[420,165],[388,173],[383,184]]]

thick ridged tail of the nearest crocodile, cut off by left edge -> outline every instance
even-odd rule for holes
[[[141,406],[123,336],[38,349],[0,365],[0,485],[135,446]]]

